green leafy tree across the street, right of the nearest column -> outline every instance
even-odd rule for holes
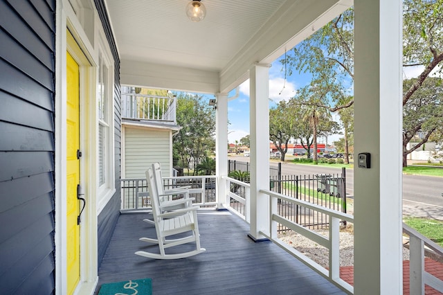
[[[409,89],[417,79],[404,80]],[[403,166],[408,166],[407,156],[424,145],[433,134],[443,130],[443,85],[440,78],[427,78],[413,93],[403,108]],[[419,134],[419,136],[417,136]],[[417,144],[408,143],[418,138]]]

